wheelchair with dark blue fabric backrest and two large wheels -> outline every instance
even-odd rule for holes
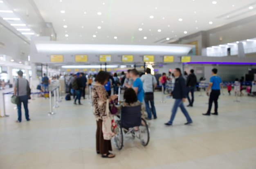
[[[116,120],[118,132],[112,137],[112,142],[119,150],[124,146],[124,135],[131,134],[139,138],[143,146],[148,145],[150,129],[145,119],[141,118],[141,105],[121,107],[120,119]],[[135,131],[134,127],[137,127]]]

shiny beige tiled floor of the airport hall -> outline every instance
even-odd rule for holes
[[[62,101],[54,115],[48,115],[49,100],[29,103],[31,121],[14,123],[17,113],[6,96],[9,117],[0,118],[0,169],[256,169],[256,98],[221,95],[219,116],[202,116],[207,96],[195,94],[193,120],[177,113],[173,126],[164,123],[171,115],[173,99],[159,103],[155,94],[157,120],[150,121],[150,142],[126,136],[124,148],[114,159],[95,152],[96,122],[88,100],[84,105]],[[186,103],[187,104],[187,103]]]

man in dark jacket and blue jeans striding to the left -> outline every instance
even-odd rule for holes
[[[178,107],[180,107],[182,113],[185,115],[187,123],[185,125],[193,123],[189,113],[186,111],[183,102],[186,100],[186,84],[185,84],[185,79],[181,75],[181,70],[180,68],[176,68],[173,72],[175,76],[175,85],[174,89],[172,92],[173,99],[175,99],[173,109],[172,109],[172,115],[170,121],[165,123],[165,125],[172,125],[173,120],[175,117],[175,114],[177,112]]]

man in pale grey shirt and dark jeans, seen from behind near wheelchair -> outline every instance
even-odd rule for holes
[[[147,93],[154,92],[154,88],[157,86],[157,79],[155,79],[155,76],[151,75],[151,70],[150,68],[147,68],[146,70],[146,75],[141,76],[141,81],[143,83],[143,90],[144,90],[144,101],[146,105],[146,111],[148,113],[148,117],[146,119],[151,120],[151,110],[154,116],[154,119],[157,119],[157,113],[155,111],[155,104],[154,104],[154,99],[153,100],[146,100],[146,95]],[[149,103],[151,105],[151,110],[149,108]]]

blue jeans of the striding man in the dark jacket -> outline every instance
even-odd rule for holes
[[[184,114],[184,116],[186,117],[186,120],[188,123],[192,123],[192,120],[189,116],[189,113],[186,111],[185,107],[184,107],[184,104],[182,102],[182,99],[175,99],[175,102],[174,102],[174,105],[173,105],[173,110],[172,110],[172,115],[171,115],[171,119],[170,121],[168,122],[169,124],[173,124],[173,120],[174,120],[174,117],[176,115],[176,112],[177,112],[177,109],[178,107],[180,107],[182,113]]]

